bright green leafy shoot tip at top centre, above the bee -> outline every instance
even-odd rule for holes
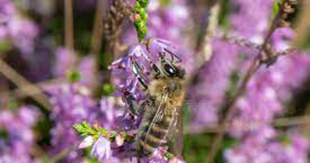
[[[147,34],[147,5],[148,0],[137,0],[134,5],[134,9],[136,11],[134,25],[137,31],[139,41],[142,41]]]

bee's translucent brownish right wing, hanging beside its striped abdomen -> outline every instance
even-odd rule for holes
[[[182,150],[183,150],[183,114],[182,114],[182,108],[176,109],[176,112],[174,113],[176,115],[176,127],[173,128],[171,132],[172,138],[170,138],[173,141],[172,144],[172,153],[177,156],[181,157]]]

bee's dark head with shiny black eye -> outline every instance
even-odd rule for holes
[[[163,62],[162,63],[162,70],[164,74],[166,74],[170,78],[180,78],[183,79],[185,76],[185,70],[175,66],[172,63]]]

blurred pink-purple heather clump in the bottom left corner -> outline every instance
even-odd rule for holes
[[[0,137],[0,162],[30,163],[35,138],[32,127],[38,120],[37,108],[23,106],[16,113],[0,111],[0,130],[7,137]]]

